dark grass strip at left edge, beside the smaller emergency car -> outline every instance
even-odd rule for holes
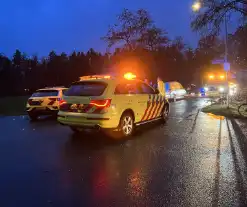
[[[26,114],[28,96],[11,96],[0,98],[0,115],[19,116]]]

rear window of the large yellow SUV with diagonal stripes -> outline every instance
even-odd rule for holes
[[[66,96],[100,96],[104,93],[107,84],[104,82],[82,81],[74,83],[68,91]]]

